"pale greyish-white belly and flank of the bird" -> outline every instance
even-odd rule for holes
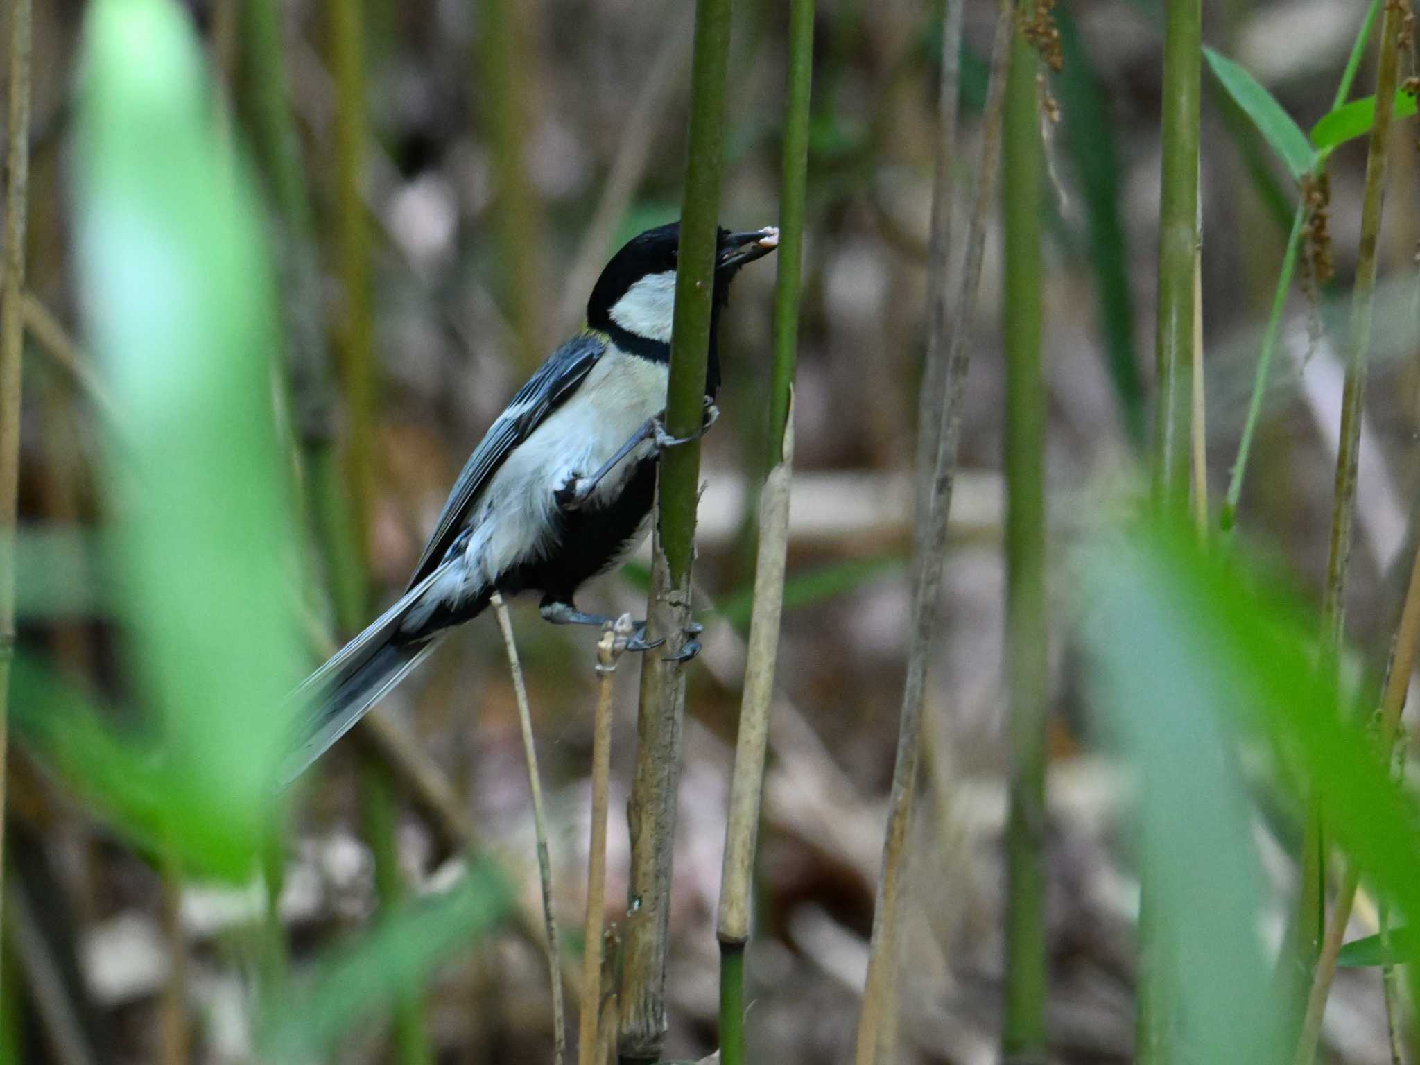
[[[487,584],[554,547],[552,493],[574,476],[595,473],[648,417],[666,405],[667,368],[612,348],[562,408],[518,444],[484,488],[469,523],[464,558]],[[622,491],[636,463],[650,454],[642,442],[606,474],[582,504],[605,506]]]

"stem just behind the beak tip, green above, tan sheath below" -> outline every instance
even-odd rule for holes
[[[744,1062],[744,950],[750,939],[750,896],[764,791],[774,669],[784,608],[788,555],[790,477],[794,466],[792,395],[798,358],[799,285],[804,254],[804,203],[808,183],[808,128],[814,65],[814,0],[790,6],[788,95],[784,105],[784,160],[780,183],[780,250],[774,287],[774,366],[770,395],[770,474],[760,496],[760,542],[754,568],[754,608],[734,771],[720,872],[720,1059]]]

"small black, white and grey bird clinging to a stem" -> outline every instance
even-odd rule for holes
[[[730,283],[778,240],[772,226],[719,231],[700,432],[717,413],[716,322]],[[679,241],[680,226],[670,223],[633,237],[612,257],[592,287],[586,325],[518,389],[473,450],[405,594],[297,689],[301,731],[284,767],[287,781],[341,738],[450,629],[479,616],[494,591],[506,598],[541,592],[542,616],[558,625],[609,621],[584,613],[572,596],[645,540],[657,459],[666,447],[684,443],[662,425]],[[640,622],[629,649],[652,646]],[[683,655],[697,649],[692,642]]]

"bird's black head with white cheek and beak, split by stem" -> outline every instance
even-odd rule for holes
[[[780,244],[780,231],[768,226],[753,233],[720,230],[716,253],[714,311],[724,305],[730,281],[746,263],[767,256]],[[676,310],[676,254],[680,223],[649,229],[632,237],[612,256],[586,302],[586,324],[611,334],[619,346],[665,358]]]

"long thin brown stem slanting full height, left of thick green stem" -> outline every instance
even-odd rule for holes
[[[946,410],[937,423],[936,457],[927,521],[916,545],[916,579],[912,594],[910,642],[907,677],[903,683],[902,714],[897,726],[897,754],[893,767],[888,831],[883,842],[883,862],[878,879],[878,899],[873,907],[873,930],[868,956],[868,980],[863,1007],[858,1022],[858,1065],[869,1065],[878,1055],[878,1037],[886,1010],[885,988],[888,970],[896,964],[892,932],[896,927],[897,890],[902,880],[903,842],[916,790],[917,754],[922,736],[922,704],[927,682],[927,657],[936,633],[936,601],[941,586],[941,558],[946,547],[947,517],[951,510],[951,488],[956,480],[957,439],[961,429],[961,405],[966,395],[967,354],[966,315],[976,301],[981,277],[985,243],[985,223],[991,213],[997,162],[1001,151],[1001,112],[1005,98],[1007,60],[1011,44],[1012,6],[1001,4],[995,38],[991,45],[991,74],[987,82],[987,108],[981,145],[981,166],[977,170],[976,204],[967,236],[966,266],[958,278],[953,301],[954,328],[950,337],[947,372],[943,379]],[[946,284],[936,278],[933,285]]]

